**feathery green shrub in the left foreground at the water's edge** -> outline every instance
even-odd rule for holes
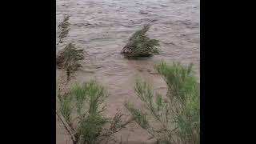
[[[81,144],[92,144],[97,142],[102,133],[103,126],[109,122],[102,114],[104,106],[102,103],[106,98],[103,87],[96,81],[75,85],[70,93],[59,97],[59,111],[69,124],[70,129],[74,130],[71,122],[71,112],[78,112],[78,127],[73,131],[76,134],[74,142]],[[75,102],[72,107],[72,102]],[[82,107],[88,110],[82,110]]]

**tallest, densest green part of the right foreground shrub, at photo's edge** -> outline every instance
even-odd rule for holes
[[[200,136],[200,90],[190,66],[179,63],[168,65],[160,62],[155,66],[168,85],[167,96],[173,102],[178,119],[178,135],[182,142],[199,143]]]

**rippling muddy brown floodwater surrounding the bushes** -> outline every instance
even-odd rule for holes
[[[117,109],[128,114],[124,102],[138,102],[134,79],[138,75],[154,83],[162,93],[166,84],[154,71],[154,62],[194,63],[200,82],[200,1],[199,0],[57,0],[56,29],[64,14],[70,15],[70,33],[58,47],[68,42],[86,51],[82,70],[75,82],[97,79],[106,87],[106,114]],[[120,54],[135,30],[150,24],[148,35],[160,41],[160,54],[151,58],[126,59]],[[57,50],[57,52],[58,52]],[[58,70],[57,70],[58,76]],[[71,143],[62,124],[56,118],[58,144]],[[122,133],[126,138],[128,133]],[[138,126],[130,134],[130,143],[153,142]]]

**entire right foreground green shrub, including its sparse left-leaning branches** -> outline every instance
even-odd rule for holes
[[[159,143],[200,143],[200,91],[192,65],[160,62],[155,69],[162,74],[168,86],[166,97],[154,94],[152,86],[137,78],[134,89],[145,109],[126,106],[130,114]],[[143,123],[138,121],[141,115],[146,114],[150,114],[148,117],[153,118],[154,123],[148,119]]]

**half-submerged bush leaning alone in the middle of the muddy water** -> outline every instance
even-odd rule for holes
[[[150,25],[146,25],[142,30],[136,31],[130,38],[126,46],[123,47],[121,54],[126,57],[147,57],[158,54],[158,40],[147,37],[146,32]]]

